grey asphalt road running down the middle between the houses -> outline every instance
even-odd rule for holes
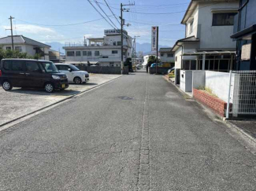
[[[256,156],[161,75],[124,75],[0,133],[0,190],[255,188]]]

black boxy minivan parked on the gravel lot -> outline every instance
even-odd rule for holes
[[[13,87],[44,88],[51,93],[69,87],[68,78],[51,61],[3,59],[0,64],[0,84],[6,91]]]

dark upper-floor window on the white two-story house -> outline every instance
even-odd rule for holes
[[[213,13],[213,26],[234,25],[236,13]]]

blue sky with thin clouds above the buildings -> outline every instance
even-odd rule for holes
[[[98,0],[98,2],[108,15],[112,15],[104,4],[104,0]],[[120,16],[121,2],[129,3],[126,0],[106,0],[106,2],[109,2],[109,6],[117,17]],[[180,24],[180,20],[190,0],[135,0],[133,2],[135,6],[130,7],[130,12],[124,13],[124,19],[132,24],[128,28],[125,27],[128,34],[140,36],[137,42],[150,43],[150,26],[153,25],[159,25],[159,44],[161,45],[173,46],[177,39],[184,38],[184,26]],[[82,42],[83,36],[101,37],[104,29],[111,29],[106,20],[97,20],[102,17],[87,0],[1,0],[0,37],[10,35],[10,31],[6,31],[6,28],[9,28],[10,15],[15,17],[14,35],[24,35],[41,42]],[[114,24],[118,24],[114,17],[110,18]],[[90,20],[97,21],[77,24]],[[60,24],[77,25],[50,26]]]

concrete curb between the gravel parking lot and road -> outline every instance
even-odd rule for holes
[[[111,83],[111,82],[113,82],[114,80],[121,78],[122,76],[123,76],[123,75],[121,75],[121,76],[119,76],[119,77],[117,77],[117,78],[115,78],[115,79],[111,79],[111,80],[109,80],[109,81],[106,82],[106,83]],[[45,106],[45,107],[43,107],[43,108],[39,108],[39,109],[37,109],[37,110],[35,110],[35,111],[33,111],[33,112],[29,112],[29,113],[25,114],[24,116],[20,116],[20,117],[17,117],[17,118],[15,118],[15,119],[9,120],[9,121],[6,122],[6,123],[2,123],[2,124],[0,125],[0,127],[4,127],[4,126],[8,125],[9,123],[13,123],[13,122],[15,122],[15,121],[17,121],[17,120],[19,120],[19,119],[23,119],[24,117],[31,116],[32,114],[35,114],[36,112],[43,111],[43,110],[46,109],[46,108],[50,108],[50,107],[52,107],[52,106],[54,106],[54,105],[58,105],[59,103],[61,103],[61,102],[63,102],[63,101],[69,100],[69,99],[71,99],[72,97],[76,97],[77,95],[83,94],[83,93],[85,93],[85,92],[87,92],[87,91],[89,91],[89,90],[93,90],[93,89],[95,89],[95,88],[97,88],[97,87],[99,87],[99,86],[103,86],[103,85],[105,85],[106,83],[102,83],[102,84],[99,84],[99,85],[97,85],[97,86],[91,87],[90,89],[83,90],[83,91],[81,91],[81,92],[79,92],[79,93],[77,93],[77,94],[71,95],[71,96],[69,96],[69,97],[65,97],[64,99],[62,99],[62,100],[60,100],[60,101],[54,102],[53,104],[47,105],[47,106]],[[1,131],[1,130],[0,130],[0,131]]]

